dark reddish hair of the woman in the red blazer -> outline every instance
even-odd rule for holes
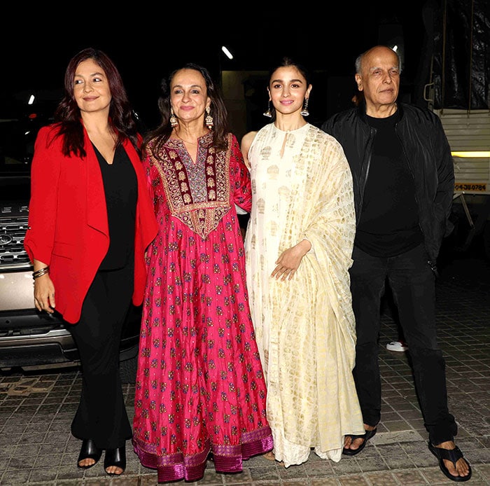
[[[85,157],[83,124],[80,109],[73,96],[73,87],[76,69],[80,62],[92,59],[96,62],[107,76],[109,90],[111,91],[111,104],[109,105],[109,125],[118,136],[117,145],[125,139],[130,139],[132,144],[141,155],[139,148],[139,134],[134,120],[132,107],[127,98],[116,64],[112,62],[106,53],[94,48],[86,48],[74,55],[66,67],[64,74],[64,95],[55,111],[55,122],[59,127],[58,137],[63,137],[63,153],[66,156],[76,155]]]

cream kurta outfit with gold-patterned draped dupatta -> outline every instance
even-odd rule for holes
[[[352,377],[356,225],[349,165],[342,146],[309,124],[292,132],[266,125],[248,161],[247,284],[274,455],[287,467],[307,461],[314,447],[339,461],[344,435],[364,433]],[[272,279],[281,252],[304,238],[312,248],[293,279]]]

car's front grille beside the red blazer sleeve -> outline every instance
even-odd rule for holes
[[[24,205],[1,207],[0,269],[28,268],[31,263],[24,249],[28,208]]]

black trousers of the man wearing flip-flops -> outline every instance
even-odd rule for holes
[[[364,423],[381,418],[378,338],[381,297],[386,280],[398,307],[408,345],[424,424],[433,444],[454,440],[457,426],[447,409],[445,363],[435,332],[435,275],[423,245],[389,258],[370,256],[357,247],[350,269],[356,316],[356,366],[353,377]]]

